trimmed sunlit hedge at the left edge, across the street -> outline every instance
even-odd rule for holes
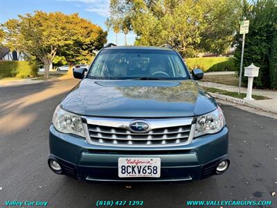
[[[37,67],[27,61],[0,61],[0,78],[37,76]]]

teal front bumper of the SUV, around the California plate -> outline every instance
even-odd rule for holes
[[[219,162],[228,159],[228,129],[193,139],[184,146],[130,148],[95,146],[75,135],[49,133],[50,156],[62,165],[62,173],[89,181],[190,181],[215,174]],[[159,157],[161,177],[118,177],[118,157]],[[48,160],[49,160],[48,159]]]

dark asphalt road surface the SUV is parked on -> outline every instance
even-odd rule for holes
[[[231,167],[190,183],[87,183],[47,166],[55,106],[78,80],[0,87],[0,207],[6,200],[47,207],[96,207],[97,200],[143,200],[143,207],[186,207],[186,200],[271,200],[277,207],[277,121],[222,105],[230,131]],[[26,207],[26,206],[23,206]]]

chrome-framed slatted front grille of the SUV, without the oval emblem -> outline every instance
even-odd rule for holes
[[[150,123],[150,131],[135,133],[129,123],[141,119],[113,119],[82,116],[87,142],[100,146],[164,147],[190,144],[195,124],[193,118],[143,119]]]

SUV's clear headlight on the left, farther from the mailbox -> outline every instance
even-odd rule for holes
[[[62,110],[60,105],[53,114],[52,123],[59,132],[84,137],[81,116]]]

